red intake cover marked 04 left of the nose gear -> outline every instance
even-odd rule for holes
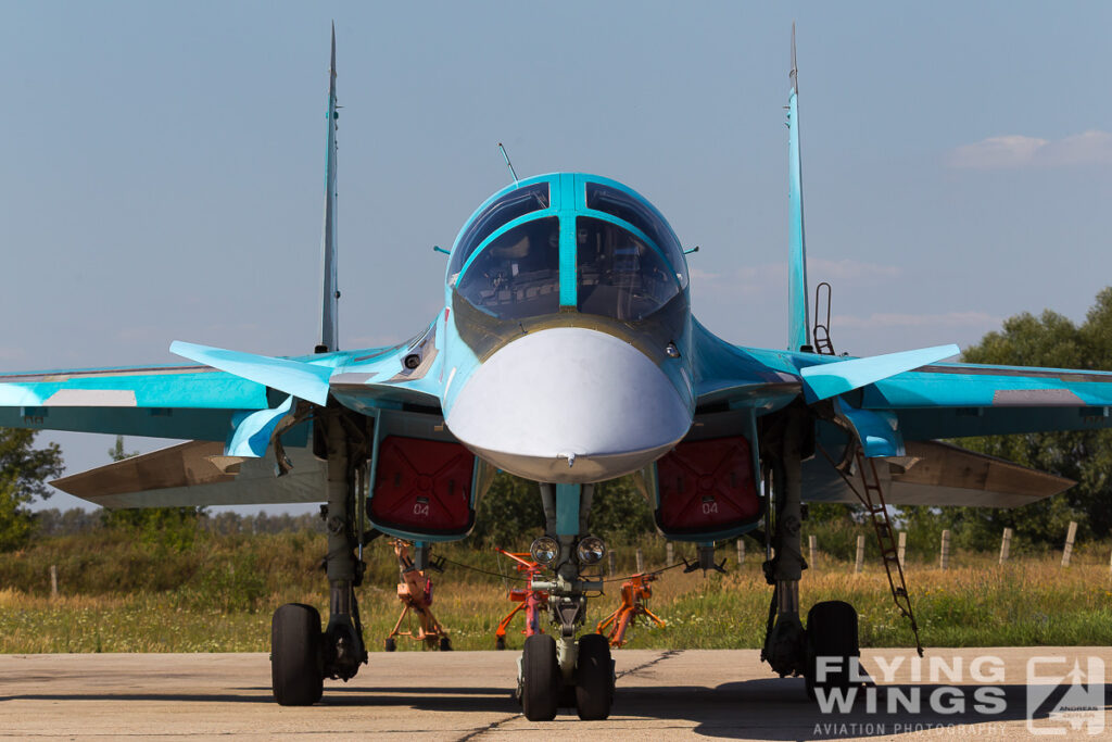
[[[378,446],[370,520],[414,534],[470,531],[475,456],[458,443],[387,436]]]

